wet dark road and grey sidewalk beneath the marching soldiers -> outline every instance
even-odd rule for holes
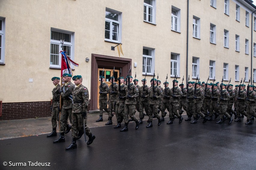
[[[101,127],[95,122],[99,117],[97,114],[89,116],[88,125],[94,127],[91,131],[96,139],[87,146],[82,137],[77,140],[78,148],[70,151],[65,148],[71,143],[71,132],[66,134],[66,142],[55,144],[53,140],[58,136],[47,138],[46,134],[27,132],[24,133],[27,137],[2,137],[0,169],[256,169],[256,122],[245,125],[246,118],[231,125],[228,121],[217,125],[216,120],[203,124],[203,119],[194,125],[184,120],[179,124],[178,119],[172,125],[166,125],[166,118],[160,126],[154,120],[152,128],[146,128],[147,122],[143,121],[138,130],[135,130],[135,122],[131,122],[129,131],[120,132],[113,128],[114,125],[105,126],[107,115],[103,116],[104,122],[99,122]],[[147,118],[145,116],[145,120]],[[40,127],[33,133],[40,133],[51,125],[50,118],[43,119],[31,120],[30,126],[36,122]],[[113,120],[115,124],[116,119]],[[31,128],[29,125],[17,127],[18,123],[12,122],[6,123],[11,129],[5,130],[16,132],[13,133],[16,135],[20,133],[15,130],[17,128],[28,131]],[[1,131],[4,130],[3,123],[0,122]],[[51,127],[48,128],[50,131]],[[44,166],[38,166],[39,163]],[[50,166],[46,166],[48,163]]]

